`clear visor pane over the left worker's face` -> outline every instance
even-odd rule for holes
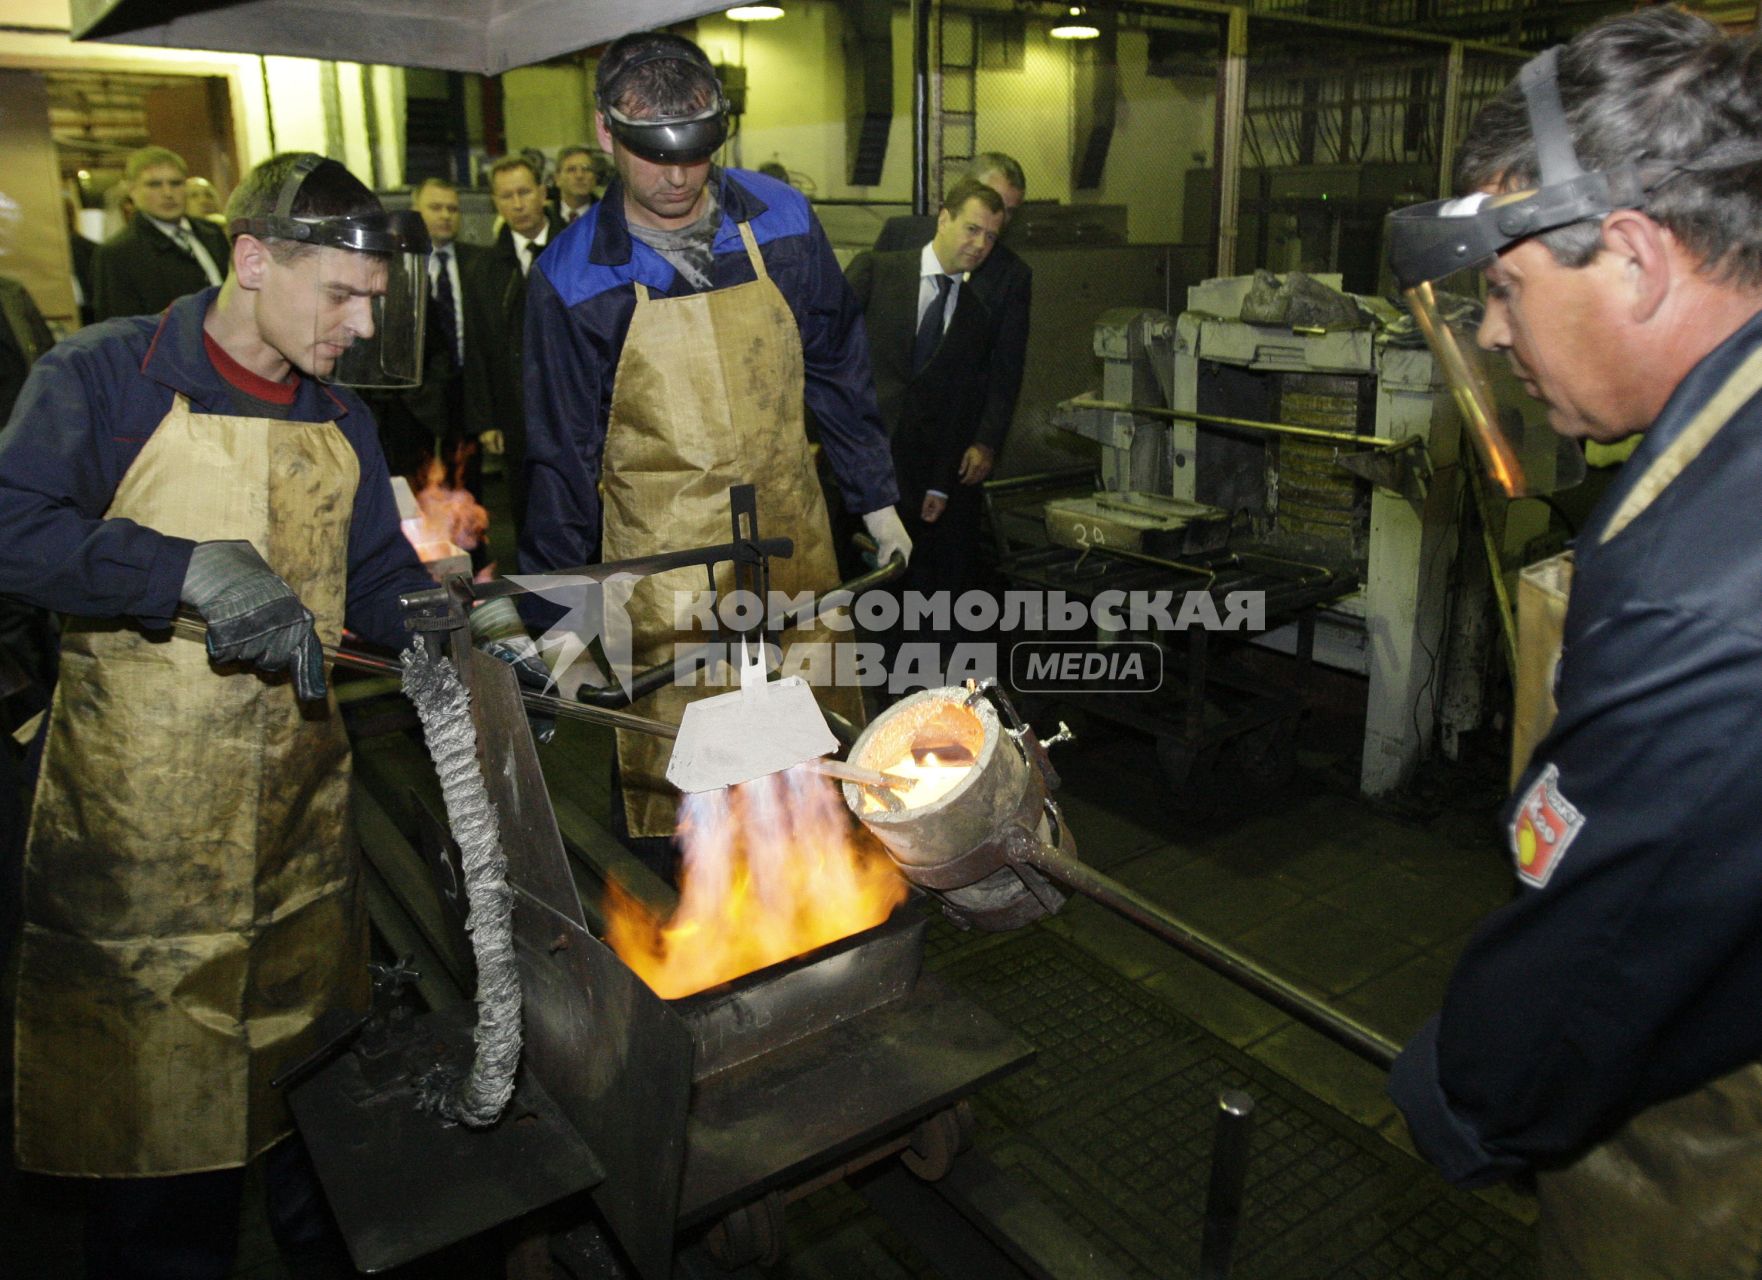
[[[411,388],[423,381],[428,256],[319,249],[312,368],[338,386]]]

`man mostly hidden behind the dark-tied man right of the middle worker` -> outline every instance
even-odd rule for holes
[[[973,293],[985,300],[999,324],[980,439],[1001,446],[1010,434],[1015,400],[1022,391],[1022,368],[1027,363],[1027,317],[1034,293],[1034,270],[1008,243],[1010,219],[1015,217],[1017,206],[1027,196],[1027,176],[1022,173],[1020,162],[1003,152],[980,152],[960,176],[985,183],[1003,199],[1004,234],[1001,243],[973,273]],[[920,249],[934,234],[936,215],[888,219],[881,234],[876,236],[876,252]],[[971,483],[981,483],[994,464],[996,448],[992,448],[990,457],[981,458],[978,478]]]

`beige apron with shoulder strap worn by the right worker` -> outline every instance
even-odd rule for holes
[[[1762,351],[1653,460],[1602,541],[1651,506],[1757,391]],[[1647,1107],[1570,1165],[1538,1172],[1536,1199],[1544,1280],[1753,1280],[1762,1275],[1762,1065]]]

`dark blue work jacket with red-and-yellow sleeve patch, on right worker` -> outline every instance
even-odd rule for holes
[[[1577,540],[1559,716],[1505,811],[1521,892],[1390,1077],[1452,1181],[1568,1160],[1762,1058],[1762,397],[1603,541],[1758,347],[1762,316],[1690,370]]]

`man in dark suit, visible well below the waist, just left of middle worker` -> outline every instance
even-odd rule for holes
[[[502,233],[472,263],[465,282],[465,430],[500,446],[515,540],[527,518],[525,360],[527,273],[562,224],[544,206],[532,162],[509,155],[490,167],[490,197]]]

